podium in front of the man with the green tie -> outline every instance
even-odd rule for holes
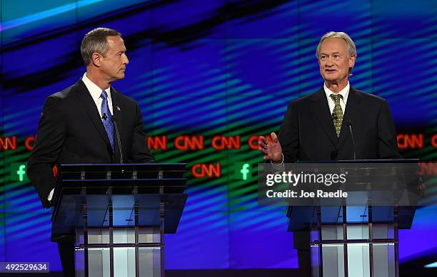
[[[399,276],[398,230],[411,228],[420,198],[417,164],[361,160],[297,166],[303,172],[340,169],[360,183],[343,187],[347,199],[313,199],[311,206],[296,201],[301,205],[288,207],[288,231],[310,232],[311,276]]]

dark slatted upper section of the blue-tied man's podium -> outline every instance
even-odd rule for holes
[[[166,233],[176,232],[188,197],[185,165],[61,164],[52,234],[84,228],[84,218],[87,228],[106,227],[109,205],[114,208],[114,226],[131,226],[137,207],[138,226],[159,226],[164,212]]]

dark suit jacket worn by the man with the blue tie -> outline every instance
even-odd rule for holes
[[[124,162],[151,162],[146,146],[141,110],[135,100],[111,87],[114,117],[118,122]],[[56,187],[54,165],[77,163],[119,163],[119,147],[114,135],[114,153],[91,94],[82,80],[49,96],[39,120],[27,175],[44,207]]]

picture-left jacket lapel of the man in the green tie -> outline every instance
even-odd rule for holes
[[[329,113],[328,100],[326,100],[326,94],[323,88],[318,90],[318,92],[313,95],[311,100],[311,109],[313,115],[315,115],[316,120],[321,125],[329,140],[331,140],[333,145],[336,146],[338,142],[336,129],[333,126],[331,113]]]

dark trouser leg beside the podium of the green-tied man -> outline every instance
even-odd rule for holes
[[[302,277],[311,277],[311,252],[309,231],[293,232],[294,249],[298,251],[299,272]]]

